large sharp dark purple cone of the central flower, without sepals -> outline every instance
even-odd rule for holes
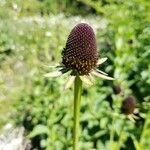
[[[62,52],[62,63],[79,75],[88,75],[98,61],[95,34],[86,23],[76,25]]]

